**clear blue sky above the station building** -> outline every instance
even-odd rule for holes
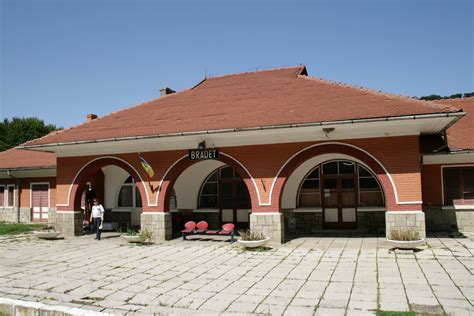
[[[408,96],[474,91],[472,0],[0,0],[0,117],[69,127],[211,75],[304,64]]]

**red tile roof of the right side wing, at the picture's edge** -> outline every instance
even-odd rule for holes
[[[467,114],[448,129],[448,145],[451,149],[474,149],[474,97],[436,101],[455,106]]]

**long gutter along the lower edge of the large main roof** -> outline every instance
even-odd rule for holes
[[[273,130],[273,129],[285,129],[285,128],[298,128],[298,127],[313,127],[313,126],[328,126],[328,125],[350,125],[357,123],[375,123],[375,122],[391,122],[391,121],[405,121],[405,120],[420,120],[430,118],[444,118],[453,117],[455,120],[448,124],[443,130],[454,124],[455,121],[466,115],[465,112],[460,110],[459,112],[447,112],[447,113],[435,113],[435,114],[416,114],[416,115],[404,115],[404,116],[387,116],[377,118],[364,118],[364,119],[353,119],[353,120],[340,120],[340,121],[324,121],[324,122],[310,122],[310,123],[296,123],[296,124],[281,124],[281,125],[266,125],[258,127],[242,127],[242,128],[226,128],[226,129],[214,129],[214,130],[203,130],[203,131],[192,131],[192,132],[177,132],[177,133],[164,133],[155,135],[145,136],[127,136],[117,138],[104,138],[97,140],[81,140],[64,143],[49,143],[40,145],[23,145],[17,146],[16,149],[34,149],[43,147],[58,147],[65,145],[82,145],[92,143],[104,143],[104,142],[118,142],[126,140],[139,140],[139,139],[151,139],[151,138],[167,138],[177,136],[193,136],[193,135],[207,135],[207,134],[220,134],[220,133],[236,133],[236,132],[247,132],[247,131],[259,131],[259,130]]]

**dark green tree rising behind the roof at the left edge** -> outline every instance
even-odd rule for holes
[[[42,137],[56,131],[55,125],[45,125],[36,117],[4,119],[0,122],[0,151],[18,146],[29,140]]]

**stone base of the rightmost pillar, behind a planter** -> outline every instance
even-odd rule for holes
[[[387,238],[390,236],[391,230],[417,231],[421,238],[425,238],[425,213],[422,211],[387,211],[385,213]]]

